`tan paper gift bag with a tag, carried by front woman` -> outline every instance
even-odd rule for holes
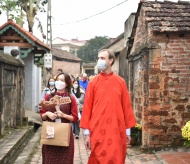
[[[44,145],[69,146],[70,123],[43,121],[40,143]]]

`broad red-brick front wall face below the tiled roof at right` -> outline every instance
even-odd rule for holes
[[[144,122],[150,147],[172,146],[190,120],[190,34],[155,36],[150,50],[149,110]]]

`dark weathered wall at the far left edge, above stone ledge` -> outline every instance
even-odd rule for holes
[[[7,127],[22,124],[24,113],[24,65],[0,54],[0,135]]]

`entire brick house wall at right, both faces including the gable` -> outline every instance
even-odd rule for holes
[[[142,9],[129,54],[128,85],[142,147],[180,144],[190,120],[190,33],[153,33]]]

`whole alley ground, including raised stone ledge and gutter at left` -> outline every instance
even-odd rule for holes
[[[29,132],[31,129],[32,126],[16,129],[0,138],[0,164],[42,164],[41,127],[32,135]],[[29,136],[29,141],[24,141]],[[75,139],[74,143],[74,164],[87,164],[90,151],[85,149],[82,130],[79,139]],[[16,156],[13,155],[14,150]],[[141,151],[139,146],[133,146],[127,149],[125,164],[190,164],[190,149],[178,147],[148,153]]]

